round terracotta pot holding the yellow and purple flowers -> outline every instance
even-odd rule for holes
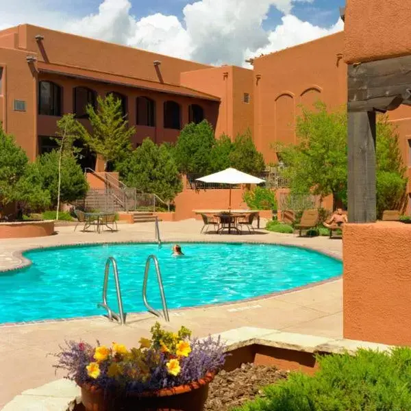
[[[86,411],[202,411],[208,397],[208,384],[214,375],[199,382],[146,393],[119,395],[92,384],[83,384],[82,402]]]

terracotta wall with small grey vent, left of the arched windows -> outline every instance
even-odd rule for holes
[[[34,66],[27,63],[26,56],[25,51],[0,48],[0,66],[3,67],[0,118],[5,132],[13,134],[29,159],[34,160],[37,152],[37,79]],[[25,101],[25,112],[14,110],[15,99]]]

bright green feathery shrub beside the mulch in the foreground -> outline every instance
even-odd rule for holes
[[[264,388],[266,397],[242,411],[402,411],[411,403],[411,349],[391,353],[359,350],[356,356],[318,357],[310,377],[291,373],[284,382]]]

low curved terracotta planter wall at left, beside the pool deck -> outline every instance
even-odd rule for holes
[[[53,220],[0,223],[0,238],[45,237],[53,233]]]

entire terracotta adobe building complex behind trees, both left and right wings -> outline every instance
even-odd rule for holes
[[[234,138],[250,129],[266,162],[275,162],[273,142],[297,141],[301,104],[318,99],[330,109],[347,104],[343,55],[356,49],[345,50],[344,36],[340,32],[262,55],[250,70],[19,25],[0,32],[0,121],[34,160],[53,147],[50,137],[62,114],[74,112],[88,127],[86,103],[114,92],[136,127],[134,147],[147,136],[174,142],[186,123],[207,119],[216,136]],[[401,105],[389,115],[411,177],[411,108]],[[94,168],[92,156],[83,162]]]

